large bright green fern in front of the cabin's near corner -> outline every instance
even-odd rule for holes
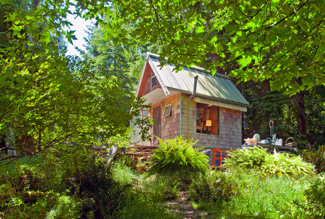
[[[150,169],[146,172],[146,177],[158,174],[186,174],[202,173],[205,174],[209,169],[208,157],[199,151],[202,148],[194,148],[196,142],[183,140],[183,137],[174,139],[159,140],[159,148],[154,149],[149,159]]]

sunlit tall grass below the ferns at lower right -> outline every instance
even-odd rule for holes
[[[218,180],[224,181],[216,184]],[[304,190],[309,185],[306,177],[261,178],[254,171],[233,170],[215,172],[207,181],[210,189],[218,192],[215,195],[228,194],[230,197],[219,201],[214,201],[212,197],[198,200],[194,205],[208,211],[209,215],[205,218],[307,218],[305,211],[293,202],[294,199],[305,199]]]

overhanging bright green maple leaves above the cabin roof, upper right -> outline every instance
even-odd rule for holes
[[[272,88],[286,89],[286,94],[324,83],[322,1],[115,4],[118,12],[106,13],[115,22],[104,22],[114,32],[111,37],[143,45],[157,42],[170,63],[203,66],[208,54],[214,53],[217,60],[208,65],[212,71],[235,61],[238,68],[231,72],[233,76],[242,81],[272,78]],[[116,27],[119,31],[113,30]]]

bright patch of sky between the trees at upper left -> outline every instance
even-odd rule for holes
[[[76,30],[75,35],[77,40],[73,41],[73,45],[69,42],[67,42],[68,45],[68,52],[67,55],[76,55],[80,57],[80,53],[75,49],[75,46],[77,46],[79,49],[84,50],[85,47],[83,46],[85,44],[84,37],[87,36],[86,30],[87,25],[91,25],[90,20],[85,20],[83,18],[77,17],[73,15],[68,16],[68,20],[73,24],[73,26],[70,27],[71,30]]]

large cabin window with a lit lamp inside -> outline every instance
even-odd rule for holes
[[[219,106],[197,103],[197,132],[219,135],[220,133]]]

